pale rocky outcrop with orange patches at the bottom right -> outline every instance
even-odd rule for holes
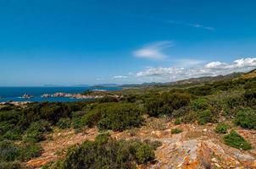
[[[256,168],[251,151],[237,150],[218,139],[164,139],[156,151],[158,162],[149,168]]]

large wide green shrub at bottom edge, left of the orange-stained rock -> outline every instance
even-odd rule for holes
[[[147,163],[154,159],[153,150],[139,141],[115,140],[109,134],[100,134],[95,141],[86,141],[70,147],[63,161],[51,169],[80,168],[136,168],[136,163]]]

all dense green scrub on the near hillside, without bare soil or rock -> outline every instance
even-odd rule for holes
[[[144,117],[149,116],[174,119],[175,125],[219,123],[220,117],[225,117],[235,126],[256,129],[256,78],[135,91],[129,95],[121,91],[124,94],[119,99],[105,97],[86,102],[0,106],[0,169],[23,168],[20,162],[41,155],[39,143],[47,139],[53,128],[75,128],[76,132],[81,132],[83,128],[97,126],[101,132],[124,131],[141,127]],[[225,144],[250,149],[239,134],[233,131],[227,134],[228,128],[230,126],[225,123],[219,123],[215,128],[216,133],[226,134]],[[171,131],[173,134],[181,132],[179,128]],[[103,154],[97,154],[99,152]],[[97,168],[95,165],[108,168],[109,162],[132,168],[135,164],[153,160],[154,155],[148,144],[99,136],[95,142],[86,141],[70,148],[66,158],[54,167],[79,168],[79,165],[88,165],[92,157],[95,161],[88,168]]]

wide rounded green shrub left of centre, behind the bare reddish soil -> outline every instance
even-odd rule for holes
[[[131,103],[109,103],[95,107],[81,119],[83,125],[92,127],[97,124],[100,130],[112,129],[123,131],[139,127],[142,122],[142,111]]]

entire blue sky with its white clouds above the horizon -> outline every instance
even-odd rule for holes
[[[256,67],[255,8],[253,0],[2,0],[0,85],[247,71]]]

